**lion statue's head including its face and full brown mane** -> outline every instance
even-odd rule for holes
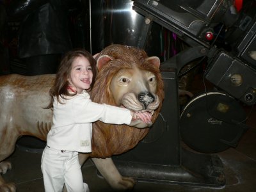
[[[160,60],[135,47],[109,45],[97,56],[99,73],[91,92],[94,102],[152,114],[152,124],[164,99]],[[135,147],[152,124],[93,123],[92,157],[110,157]]]

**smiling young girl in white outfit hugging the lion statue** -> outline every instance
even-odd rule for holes
[[[92,152],[92,122],[131,123],[132,118],[150,122],[148,113],[134,113],[125,108],[97,104],[88,92],[95,83],[95,60],[84,50],[67,52],[60,63],[56,81],[50,90],[53,108],[52,127],[42,155],[45,191],[89,191],[83,183],[78,152]]]

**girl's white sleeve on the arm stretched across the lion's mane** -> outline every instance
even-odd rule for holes
[[[90,99],[78,97],[72,103],[76,123],[91,123],[100,120],[107,124],[131,123],[131,111],[108,104],[98,104]]]

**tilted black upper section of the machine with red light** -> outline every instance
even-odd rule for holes
[[[244,9],[237,13],[233,2],[139,0],[134,1],[134,10],[173,31],[191,46],[186,53],[180,52],[162,66],[177,63],[179,72],[189,61],[207,56],[209,68],[205,77],[233,97],[252,105],[256,101],[253,81],[256,77],[256,5],[255,1],[244,1]],[[220,28],[225,29],[222,38],[217,34],[223,32]],[[214,44],[218,37],[225,44]],[[142,44],[140,42],[143,47]]]

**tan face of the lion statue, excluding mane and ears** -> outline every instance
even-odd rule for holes
[[[131,111],[147,111],[151,115],[159,106],[156,76],[152,72],[137,67],[118,70],[109,88],[117,106],[123,106]],[[132,122],[132,126],[137,128],[151,125],[140,120]]]

